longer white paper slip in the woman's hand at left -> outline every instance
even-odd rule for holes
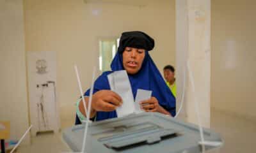
[[[116,92],[123,100],[123,105],[116,108],[117,117],[124,117],[134,113],[134,99],[131,84],[125,70],[114,71],[108,75],[111,91]]]

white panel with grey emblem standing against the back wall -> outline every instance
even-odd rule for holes
[[[60,129],[56,96],[56,52],[28,52],[28,86],[31,133]]]

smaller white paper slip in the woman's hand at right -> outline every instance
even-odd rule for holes
[[[138,89],[137,94],[136,94],[136,98],[135,98],[135,113],[141,113],[141,112],[145,112],[144,110],[142,110],[140,108],[140,102],[150,99],[151,98],[151,94],[152,91],[147,91],[147,90],[143,90],[143,89]]]

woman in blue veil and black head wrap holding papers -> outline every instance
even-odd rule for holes
[[[122,105],[122,98],[110,91],[107,76],[113,71],[123,69],[127,71],[134,98],[138,89],[152,91],[150,99],[140,102],[145,112],[175,115],[175,98],[148,54],[148,51],[153,48],[154,40],[143,32],[122,33],[118,52],[111,63],[112,71],[102,73],[95,81],[90,119],[104,120],[116,117],[115,110]],[[89,96],[89,93],[90,89],[85,92],[84,96]],[[89,98],[84,99],[88,105]],[[77,103],[77,115],[80,120],[86,117],[82,101]],[[79,124],[79,119],[76,120],[76,124]]]

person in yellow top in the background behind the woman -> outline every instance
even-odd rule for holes
[[[164,66],[164,79],[167,86],[172,91],[173,96],[176,98],[176,83],[175,83],[175,69],[171,65]]]

